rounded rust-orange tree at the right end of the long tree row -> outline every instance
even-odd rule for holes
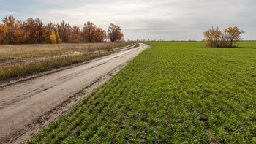
[[[121,28],[118,25],[110,24],[108,27],[108,39],[111,42],[118,42],[124,37],[124,34],[121,32]]]

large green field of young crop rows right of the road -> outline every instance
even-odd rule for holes
[[[256,42],[149,44],[29,143],[256,143]]]

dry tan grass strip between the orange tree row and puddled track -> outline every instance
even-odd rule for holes
[[[113,43],[63,43],[63,44],[31,44],[0,45],[0,61],[41,56],[56,56],[67,53],[86,53],[95,50],[106,50],[128,45],[128,42]]]

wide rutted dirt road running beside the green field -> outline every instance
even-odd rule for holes
[[[140,44],[76,67],[1,86],[0,143],[24,143],[146,48],[149,46]]]

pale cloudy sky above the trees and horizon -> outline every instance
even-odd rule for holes
[[[0,0],[0,18],[64,20],[83,27],[121,26],[127,39],[202,40],[203,31],[239,26],[244,39],[256,39],[255,0]]]

